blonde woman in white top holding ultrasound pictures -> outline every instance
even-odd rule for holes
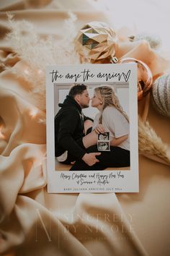
[[[76,161],[71,171],[130,166],[129,119],[113,88],[108,85],[95,88],[91,106],[97,108],[99,113],[95,116],[92,132],[83,138],[86,153],[99,152],[97,135],[104,132],[110,135],[110,151],[102,151],[97,155],[99,162],[93,166],[88,166],[84,161]]]

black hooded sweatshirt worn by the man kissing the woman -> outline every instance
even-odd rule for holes
[[[76,140],[84,137],[84,121],[90,119],[81,112],[81,107],[71,96],[66,96],[61,109],[55,116],[55,156],[68,150],[75,158],[82,158],[86,153]]]

